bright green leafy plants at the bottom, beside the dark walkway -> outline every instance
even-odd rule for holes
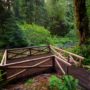
[[[65,75],[61,79],[56,76],[50,77],[50,90],[77,90],[78,80],[70,75]]]

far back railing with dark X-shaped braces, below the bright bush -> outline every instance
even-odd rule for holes
[[[41,46],[41,47],[25,47],[25,48],[15,48],[7,50],[7,59],[17,59],[23,58],[27,56],[35,56],[40,54],[45,54],[50,52],[49,46]]]

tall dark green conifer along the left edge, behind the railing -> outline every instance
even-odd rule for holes
[[[0,0],[0,48],[24,46],[26,42],[12,16],[11,4],[8,8],[7,2],[8,0]]]

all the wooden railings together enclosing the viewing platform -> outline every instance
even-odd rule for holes
[[[51,53],[49,55],[48,53]],[[48,56],[38,58],[28,58],[31,56],[47,54]],[[22,60],[26,58],[25,60]],[[21,61],[15,61],[7,63],[7,60],[13,61],[21,59]],[[6,73],[7,80],[12,80],[16,77],[27,76],[43,70],[46,68],[58,68],[62,74],[67,74],[68,67],[72,65],[81,66],[84,57],[57,48],[55,46],[42,46],[42,47],[25,47],[7,49],[4,52],[0,68]],[[66,69],[65,69],[66,68]]]

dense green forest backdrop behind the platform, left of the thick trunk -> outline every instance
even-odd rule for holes
[[[1,0],[0,48],[52,43],[63,46],[68,41],[73,45],[70,38],[74,36],[77,41],[73,6],[72,0]],[[42,38],[32,35],[30,29]],[[45,32],[49,35],[43,36]]]

